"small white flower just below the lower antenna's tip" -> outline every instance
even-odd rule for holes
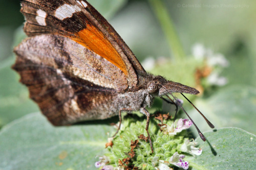
[[[195,155],[201,155],[202,154],[202,149],[201,148],[196,148],[196,145],[198,145],[197,142],[195,142],[194,140],[190,141],[190,140],[186,140],[182,145],[180,150],[182,152],[191,154],[193,156]]]

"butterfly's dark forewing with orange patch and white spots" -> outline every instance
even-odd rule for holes
[[[29,36],[58,34],[69,37],[113,63],[124,73],[129,87],[135,87],[137,72],[145,72],[130,48],[106,19],[87,1],[22,1]]]

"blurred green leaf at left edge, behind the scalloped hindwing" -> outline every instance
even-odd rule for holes
[[[14,60],[0,64],[0,127],[27,113],[38,111],[29,99],[28,89],[18,82],[19,76],[11,69]]]

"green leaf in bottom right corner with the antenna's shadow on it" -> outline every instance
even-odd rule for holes
[[[256,136],[239,128],[221,128],[204,133],[207,141],[196,139],[202,155],[186,157],[193,169],[254,169]]]

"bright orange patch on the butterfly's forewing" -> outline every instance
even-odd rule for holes
[[[79,38],[72,39],[116,65],[123,71],[124,75],[128,75],[126,65],[121,56],[101,31],[87,24],[87,28],[79,31],[77,35]]]

